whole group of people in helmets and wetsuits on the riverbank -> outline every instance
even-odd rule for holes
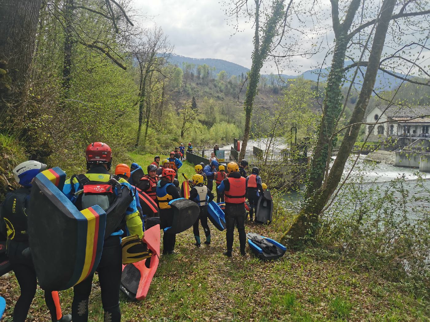
[[[181,146],[183,146],[181,144]],[[179,152],[180,152],[179,147]],[[189,143],[188,152],[193,147]],[[179,182],[176,179],[178,169],[182,166],[180,156],[171,152],[169,158],[160,162],[160,156],[155,156],[154,161],[147,166],[147,174],[142,168],[133,163],[118,164],[115,175],[109,173],[112,165],[111,148],[102,142],[90,144],[86,151],[87,172],[74,175],[66,180],[63,193],[71,200],[78,210],[92,207],[95,204],[104,210],[114,202],[118,195],[117,185],[112,185],[114,194],[102,194],[94,197],[94,191],[89,191],[93,185],[111,184],[114,180],[121,186],[126,185],[134,194],[133,200],[127,207],[123,220],[111,236],[104,240],[101,259],[96,268],[101,288],[101,302],[104,309],[104,320],[120,322],[121,313],[119,306],[119,290],[122,274],[122,248],[121,239],[125,236],[135,235],[139,240],[144,236],[144,213],[139,202],[138,190],[147,194],[157,203],[160,217],[160,227],[167,228],[172,225],[173,210],[169,201],[180,198]],[[178,157],[179,156],[179,157]],[[227,171],[218,161],[212,160],[210,164],[197,164],[196,174],[190,180],[189,199],[200,207],[200,216],[193,225],[196,246],[200,246],[199,222],[201,223],[206,240],[211,243],[209,226],[207,224],[207,205],[215,196],[212,193],[215,181],[217,201],[225,201],[225,221],[227,228],[226,256],[232,256],[234,226],[239,232],[240,253],[245,255],[246,234],[245,202],[248,197],[250,205],[250,217],[255,200],[262,194],[263,187],[259,177],[258,168],[252,168],[252,174],[246,176],[246,160],[240,165],[236,162],[227,164]],[[13,310],[13,321],[24,322],[31,302],[34,298],[37,286],[37,275],[31,258],[27,234],[27,213],[32,181],[38,173],[46,169],[46,164],[37,161],[26,161],[18,164],[13,169],[16,182],[20,187],[10,191],[0,206],[0,236],[6,238],[7,255],[15,271],[15,276],[21,289],[21,295]],[[252,207],[252,208],[251,208]],[[156,215],[157,216],[157,215]],[[175,247],[175,234],[166,231],[163,235],[163,255],[173,254]],[[53,322],[88,321],[89,295],[92,288],[94,274],[89,275],[82,282],[74,286],[74,298],[72,302],[72,314],[62,316],[59,308],[58,292],[46,290],[46,304],[50,310]]]

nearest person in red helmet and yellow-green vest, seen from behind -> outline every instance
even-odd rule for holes
[[[87,173],[83,176],[73,176],[72,181],[68,179],[63,188],[64,194],[77,206],[78,210],[91,207],[94,204],[91,204],[92,199],[84,199],[84,197],[86,197],[85,194],[80,194],[79,197],[76,197],[74,191],[80,191],[83,189],[84,185],[107,184],[112,179],[112,175],[109,173],[112,164],[112,151],[107,144],[102,142],[89,144],[86,148],[85,155],[88,169]],[[134,189],[125,179],[120,178],[117,181],[121,186],[125,185],[134,193]],[[104,210],[106,210],[118,196],[117,187],[115,187],[113,191],[114,193],[109,194],[110,197],[108,197],[107,200],[98,199],[99,206]],[[129,235],[138,235],[140,239],[143,237],[143,223],[136,207],[134,195],[124,214],[123,223],[120,225],[126,227]],[[121,235],[123,235],[123,231],[118,227],[111,236],[105,238],[100,262],[96,268],[101,289],[104,321],[110,322],[121,321],[120,283],[123,270]],[[88,302],[93,276],[94,274],[89,275],[81,283],[73,287],[73,322],[88,321]]]

